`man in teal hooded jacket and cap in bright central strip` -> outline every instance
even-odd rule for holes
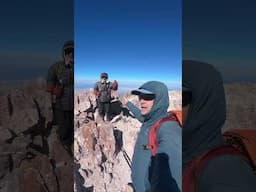
[[[142,123],[132,158],[132,182],[136,192],[181,191],[182,131],[175,121],[162,123],[158,131],[159,146],[155,157],[144,146],[151,126],[168,116],[167,86],[158,81],[143,84],[132,94],[138,95],[140,108],[123,98],[123,105]]]

